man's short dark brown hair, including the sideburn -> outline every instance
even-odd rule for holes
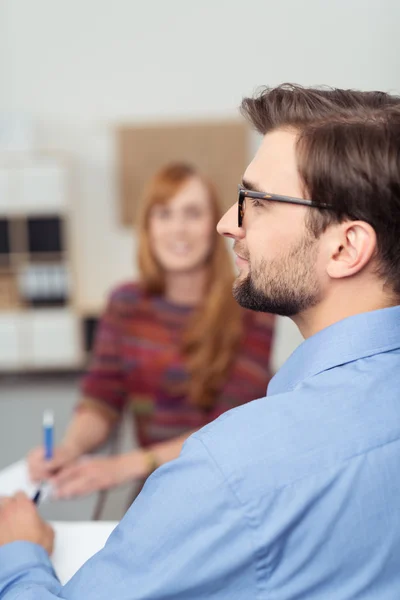
[[[245,98],[241,110],[262,134],[298,130],[304,195],[333,206],[310,209],[309,229],[318,237],[335,222],[369,223],[378,272],[400,297],[400,97],[285,84]]]

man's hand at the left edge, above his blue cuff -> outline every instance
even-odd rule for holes
[[[48,554],[53,552],[52,527],[41,519],[33,502],[22,492],[0,498],[0,546],[18,541],[33,542]]]

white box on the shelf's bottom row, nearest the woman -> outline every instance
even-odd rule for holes
[[[31,326],[33,368],[79,366],[79,322],[70,309],[30,310],[26,319]]]

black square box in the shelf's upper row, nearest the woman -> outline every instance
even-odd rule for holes
[[[62,252],[62,222],[59,217],[28,219],[28,249],[31,253]]]

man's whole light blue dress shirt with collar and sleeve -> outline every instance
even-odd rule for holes
[[[0,548],[7,600],[398,600],[400,307],[305,341],[268,396],[193,435],[64,587]]]

